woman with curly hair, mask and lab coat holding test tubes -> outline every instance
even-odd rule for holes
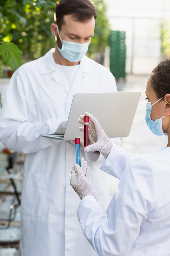
[[[146,96],[148,127],[158,136],[168,135],[168,145],[154,153],[135,157],[114,145],[98,120],[85,112],[95,142],[85,151],[100,151],[100,169],[120,179],[105,216],[88,181],[86,162],[82,159],[82,168],[73,165],[70,184],[81,198],[78,218],[101,256],[170,255],[170,59],[153,69]],[[83,116],[78,121],[83,123]]]

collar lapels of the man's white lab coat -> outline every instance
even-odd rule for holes
[[[48,74],[53,71],[56,71],[55,60],[53,58],[54,49],[52,48],[50,51],[46,53],[43,57],[43,62],[41,66],[41,75]],[[86,55],[80,61],[80,71],[90,74],[94,71],[94,65],[92,65],[91,59],[89,59]]]

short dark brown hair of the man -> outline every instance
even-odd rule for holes
[[[97,18],[94,3],[88,0],[60,0],[56,3],[54,21],[61,30],[64,24],[64,16],[72,15],[74,21],[86,22],[93,16]]]

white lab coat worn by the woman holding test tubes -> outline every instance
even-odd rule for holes
[[[92,196],[82,199],[78,218],[98,255],[170,255],[170,148],[134,157],[116,145],[101,169],[119,184],[107,217]]]

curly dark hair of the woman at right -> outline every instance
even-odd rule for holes
[[[170,93],[170,58],[159,62],[152,70],[150,81],[158,99]]]

